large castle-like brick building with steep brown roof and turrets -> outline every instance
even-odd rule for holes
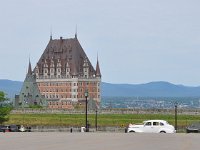
[[[98,57],[96,69],[94,69],[81,47],[77,35],[70,39],[62,37],[52,39],[51,36],[34,70],[31,70],[30,66],[27,75],[35,78],[34,81],[41,97],[47,101],[47,107],[74,109],[74,107],[83,106],[86,91],[89,93],[88,101],[92,101],[90,102],[92,109],[99,107],[101,72]],[[22,88],[18,104],[25,104],[22,99],[25,89]],[[33,103],[30,100],[27,102],[27,104]]]

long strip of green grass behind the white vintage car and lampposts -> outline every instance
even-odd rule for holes
[[[162,119],[174,125],[174,115],[170,114],[98,114],[98,126],[125,127],[129,123],[142,123],[144,120]],[[178,127],[200,120],[199,115],[178,115]],[[91,127],[95,126],[95,114],[88,115]],[[4,124],[28,126],[85,126],[85,114],[10,114]]]

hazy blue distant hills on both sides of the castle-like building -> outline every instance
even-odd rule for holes
[[[23,82],[0,80],[0,90],[9,98],[19,94]],[[110,84],[102,82],[102,96],[115,97],[200,97],[200,87],[174,85],[169,82],[146,84]]]

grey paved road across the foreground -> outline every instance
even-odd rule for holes
[[[0,132],[1,150],[198,150],[200,134]]]

